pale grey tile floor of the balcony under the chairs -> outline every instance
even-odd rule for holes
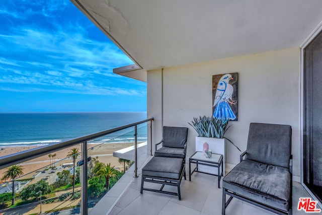
[[[187,171],[188,172],[188,171]],[[138,172],[140,175],[140,171]],[[143,191],[140,194],[141,177],[132,179],[131,183],[124,190],[121,197],[116,202],[110,215],[210,215],[221,214],[222,189],[218,188],[217,177],[194,173],[191,181],[182,180],[181,196],[182,200],[178,200],[178,196],[167,195],[163,193],[155,193]],[[159,187],[160,185],[152,183],[144,183],[144,186]],[[167,187],[167,186],[166,186]],[[176,187],[168,186],[169,191],[176,192]],[[221,183],[220,183],[221,187]],[[299,197],[309,197],[300,183],[293,183],[293,214],[305,214],[303,210],[298,211],[297,204]],[[103,200],[103,199],[102,199]],[[233,199],[226,208],[226,214],[274,214],[252,204]]]

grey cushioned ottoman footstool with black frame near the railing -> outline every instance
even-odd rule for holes
[[[167,158],[153,157],[142,169],[141,193],[143,190],[177,195],[181,200],[180,183],[182,177],[186,180],[186,169],[184,159],[182,158]],[[160,189],[144,188],[143,183],[151,182],[162,184]],[[176,186],[178,193],[164,191],[165,185]]]

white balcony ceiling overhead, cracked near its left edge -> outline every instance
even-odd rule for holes
[[[299,47],[321,0],[71,0],[144,70]]]

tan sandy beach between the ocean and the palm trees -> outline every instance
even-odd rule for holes
[[[123,143],[109,143],[109,144],[89,144],[88,145],[88,155],[91,156],[92,158],[98,157],[98,160],[103,163],[111,163],[111,166],[115,166],[115,168],[118,168],[120,171],[123,170],[123,165],[118,162],[118,158],[113,157],[113,152],[117,150],[121,150],[127,147],[133,146],[133,142],[123,142]],[[21,151],[26,151],[33,149],[35,147],[6,147],[4,150],[0,150],[0,157],[18,153]],[[56,154],[55,157],[55,166],[60,167],[62,164],[66,163],[72,163],[72,159],[66,158],[66,155],[72,148],[78,148],[78,152],[81,152],[81,145],[76,145],[73,147],[69,147],[51,154]],[[24,177],[31,177],[32,175],[37,174],[37,170],[42,170],[46,166],[49,167],[50,163],[53,162],[53,158],[50,158],[47,156],[41,156],[39,158],[26,161],[22,164],[20,164],[24,168],[24,173],[28,174]],[[61,159],[64,159],[62,161],[59,161]],[[76,160],[76,162],[80,160],[80,157]],[[59,162],[57,162],[59,161]],[[6,169],[0,170],[0,178],[3,177],[4,172]]]

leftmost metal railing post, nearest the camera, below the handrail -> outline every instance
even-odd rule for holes
[[[81,167],[81,189],[82,189],[81,214],[85,215],[85,214],[88,214],[87,141],[83,142],[83,144],[82,144],[82,160],[83,160],[84,164]]]

